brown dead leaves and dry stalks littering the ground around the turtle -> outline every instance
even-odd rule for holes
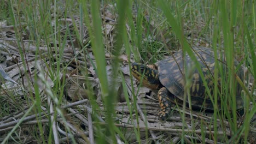
[[[113,56],[109,51],[114,46],[114,34],[117,29],[115,27],[117,24],[117,14],[110,11],[113,7],[113,5],[107,5],[102,9],[102,20],[104,20],[102,34],[107,35],[107,37],[104,37],[104,42],[106,46],[105,58],[107,59],[106,71],[109,86],[113,85],[113,81],[110,81],[113,77],[111,65]],[[104,113],[94,112],[90,105],[89,97],[92,95],[96,97],[98,108],[104,111],[100,81],[95,71],[96,62],[89,44],[89,34],[84,24],[82,26],[79,25],[79,16],[74,16],[73,19],[75,23],[72,22],[72,19],[65,19],[63,17],[60,17],[58,20],[62,23],[62,28],[56,29],[56,31],[61,33],[61,39],[67,39],[67,42],[66,44],[56,44],[56,46],[54,46],[54,43],[47,45],[46,41],[40,41],[39,46],[36,45],[36,41],[28,39],[31,32],[25,24],[21,25],[24,29],[20,29],[22,35],[21,43],[15,36],[14,26],[8,25],[7,21],[0,21],[0,64],[9,76],[19,83],[19,85],[14,85],[10,82],[3,82],[4,84],[2,85],[0,100],[6,104],[6,107],[1,106],[0,141],[3,141],[5,136],[19,122],[21,122],[19,129],[16,129],[16,131],[19,131],[19,136],[13,136],[9,140],[20,140],[23,143],[37,141],[30,131],[33,130],[36,133],[40,133],[37,128],[33,127],[38,124],[38,117],[40,117],[40,123],[45,131],[45,136],[49,135],[49,124],[53,123],[54,137],[59,142],[71,141],[73,135],[78,138],[76,139],[77,143],[93,143],[94,137],[97,135],[94,133],[96,131],[94,124],[107,124]],[[82,43],[87,47],[81,47],[81,41],[74,34],[75,28],[73,24],[79,28],[79,32],[83,33]],[[53,21],[52,25],[55,25]],[[150,29],[153,31],[156,27],[156,22],[151,21]],[[126,25],[126,28],[127,31],[130,31],[129,26]],[[71,37],[65,37],[67,29],[73,33],[70,35]],[[162,38],[161,34],[156,36],[158,40]],[[170,39],[167,38],[167,41]],[[202,40],[195,39],[195,41],[197,41],[196,45],[208,46]],[[20,45],[24,45],[22,46],[22,55],[18,49]],[[63,55],[61,59],[57,59],[56,57],[61,52],[61,47],[63,47]],[[37,51],[40,55],[36,55]],[[25,58],[25,63],[22,62],[22,57]],[[56,68],[57,61],[61,63],[60,69]],[[211,113],[203,114],[193,111],[192,115],[195,123],[191,123],[190,111],[182,111],[182,107],[173,105],[173,111],[168,121],[159,121],[158,112],[160,108],[156,94],[146,87],[137,85],[136,80],[130,75],[128,62],[134,62],[134,59],[129,59],[125,53],[122,53],[119,56],[119,61],[120,66],[118,69],[120,69],[120,72],[116,76],[117,81],[115,81],[115,91],[118,92],[118,103],[115,104],[115,112],[117,113],[115,125],[126,131],[124,135],[127,139],[129,137],[130,143],[137,143],[136,135],[133,131],[134,128],[139,128],[142,143],[149,142],[149,140],[156,143],[170,143],[171,141],[178,143],[181,140],[182,131],[185,131],[187,134],[184,135],[187,143],[191,141],[214,143],[211,139],[214,133]],[[61,75],[52,74],[51,71],[54,70],[60,70]],[[85,73],[85,71],[87,72]],[[124,77],[127,92],[124,92],[122,77]],[[65,83],[63,92],[65,97],[62,99],[61,104],[54,97],[54,95],[61,93],[55,92],[57,86],[54,83],[57,80]],[[35,89],[35,85],[37,85],[38,90]],[[57,89],[60,90],[60,88]],[[40,112],[29,111],[31,103],[28,102],[35,99],[36,91],[40,93],[40,107],[42,109]],[[129,95],[129,105],[125,99],[125,93]],[[133,100],[133,94],[136,95],[136,104],[133,103],[135,101]],[[134,110],[135,105],[139,116],[138,121],[136,120]],[[56,113],[53,109],[54,106],[62,110],[62,112]],[[50,111],[48,111],[48,107]],[[26,112],[29,112],[28,115],[22,118]],[[186,125],[183,125],[182,122],[181,113],[183,112],[186,115]],[[5,115],[5,113],[9,114]],[[55,113],[57,114],[56,118],[53,117]],[[95,121],[91,115],[95,115],[98,120]],[[219,125],[217,141],[222,143],[225,140],[225,136],[231,136],[229,123],[221,119],[217,119],[217,121]],[[221,124],[225,125],[225,129],[220,126]],[[201,127],[205,127],[204,130]],[[67,132],[66,129],[70,131]],[[206,134],[205,140],[201,137],[202,134]],[[118,134],[116,137],[118,143],[124,143]],[[112,143],[109,138],[106,138],[106,141]],[[250,142],[253,143],[254,141],[255,137],[250,137]]]

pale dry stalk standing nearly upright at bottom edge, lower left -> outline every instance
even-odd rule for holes
[[[53,113],[54,110],[53,110],[53,102],[51,101],[51,98],[50,96],[48,96],[48,105],[50,106],[50,113]],[[51,115],[51,123],[52,123],[52,127],[53,127],[53,135],[54,135],[54,142],[56,144],[59,144],[59,137],[58,137],[58,134],[57,134],[57,128],[56,128],[56,121],[54,119],[54,115]]]

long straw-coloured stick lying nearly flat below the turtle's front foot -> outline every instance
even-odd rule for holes
[[[94,122],[95,124],[102,124],[102,125],[106,125],[107,123],[102,123],[102,122]],[[134,128],[134,127],[138,127],[139,129],[148,129],[148,130],[154,130],[154,131],[167,131],[167,132],[173,132],[173,133],[182,133],[182,129],[168,129],[168,128],[156,128],[156,127],[142,127],[139,125],[132,125],[132,124],[119,124],[119,123],[114,123],[114,125],[116,125],[117,127],[123,127],[123,128]],[[196,134],[201,134],[202,130],[190,130],[190,129],[184,129],[185,133],[196,133]],[[212,134],[212,131],[209,130],[205,130],[203,131],[203,133],[206,134]],[[218,135],[228,135],[230,136],[230,133],[228,131],[226,131],[224,133],[224,131],[218,131],[217,133]]]

